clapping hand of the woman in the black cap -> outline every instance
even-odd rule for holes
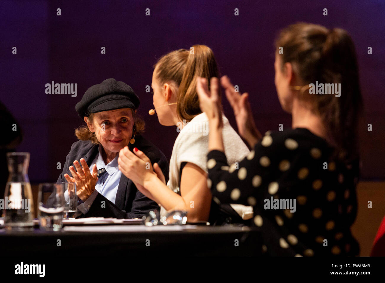
[[[96,164],[94,164],[91,172],[84,158],[80,159],[80,163],[82,164],[83,168],[80,166],[79,161],[75,160],[74,165],[77,171],[75,171],[74,166],[70,166],[69,169],[72,177],[70,177],[68,174],[64,174],[64,178],[68,182],[74,182],[76,184],[77,196],[82,201],[85,201],[95,190],[95,184],[98,180],[97,168]]]

